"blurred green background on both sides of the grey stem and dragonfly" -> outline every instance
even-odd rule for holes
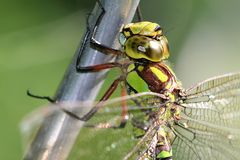
[[[46,104],[27,97],[26,90],[54,95],[94,3],[0,1],[0,159],[22,157],[19,123]],[[145,20],[165,29],[170,62],[185,87],[240,71],[240,1],[142,0],[141,6]]]

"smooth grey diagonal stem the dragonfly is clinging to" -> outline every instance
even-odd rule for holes
[[[96,39],[117,48],[117,36],[122,24],[129,23],[134,16],[139,0],[102,0],[106,10],[97,30]],[[96,22],[101,8],[96,4],[89,18],[90,28]],[[90,32],[86,32],[81,47],[77,50],[65,76],[56,92],[57,102],[94,100],[105,78],[106,72],[77,73],[76,61],[80,55],[80,65],[90,66],[108,61],[111,57],[93,50],[89,46]],[[85,40],[86,43],[85,43]],[[46,117],[34,140],[28,148],[26,160],[64,160],[77,138],[83,122],[59,110]]]

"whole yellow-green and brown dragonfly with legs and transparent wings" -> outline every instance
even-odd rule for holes
[[[69,104],[54,104],[76,120],[86,122],[77,157],[239,159],[240,73],[213,77],[184,89],[166,63],[170,55],[168,41],[159,24],[140,21],[124,25],[119,36],[122,50],[117,50],[94,38],[105,13],[103,7],[102,10],[90,43],[95,49],[116,56],[117,61],[87,67],[77,64],[76,68],[78,72],[99,72],[117,67],[122,74],[100,102],[74,105],[81,111],[91,108],[84,114],[69,111]],[[128,83],[127,76],[132,72],[145,81],[149,92],[138,93]],[[109,100],[118,86],[122,97]]]

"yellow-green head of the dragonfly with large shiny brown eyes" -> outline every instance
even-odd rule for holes
[[[130,23],[122,28],[119,40],[132,59],[160,62],[169,57],[167,38],[156,23]]]

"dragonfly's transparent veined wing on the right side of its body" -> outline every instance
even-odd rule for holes
[[[199,83],[186,91],[182,119],[174,129],[177,160],[240,158],[240,73]]]

